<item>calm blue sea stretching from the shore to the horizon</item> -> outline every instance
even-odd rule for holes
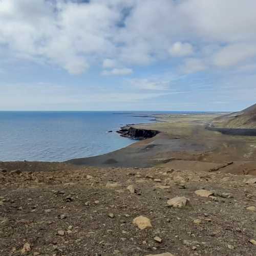
[[[0,112],[0,161],[65,161],[117,150],[134,142],[115,133],[120,126],[151,122],[136,114]]]

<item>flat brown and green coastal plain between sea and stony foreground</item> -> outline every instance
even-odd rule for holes
[[[134,136],[134,143],[110,153],[70,159],[63,162],[0,162],[0,169],[30,172],[94,167],[166,167],[255,174],[256,136],[232,136],[205,129],[218,114],[161,115],[164,122],[125,127],[124,136]],[[133,132],[127,133],[129,129]],[[148,131],[154,133],[148,134]],[[148,136],[150,135],[150,136]],[[229,145],[229,146],[226,146]],[[234,161],[236,159],[236,161]],[[227,165],[227,163],[232,164]],[[9,167],[8,167],[9,166]],[[32,167],[31,167],[32,166]],[[225,167],[223,167],[225,166]]]

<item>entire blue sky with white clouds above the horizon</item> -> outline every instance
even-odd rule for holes
[[[238,111],[255,0],[0,0],[0,111]]]

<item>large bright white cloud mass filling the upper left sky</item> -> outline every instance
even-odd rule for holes
[[[1,1],[0,44],[15,56],[44,58],[70,73],[82,73],[89,59],[113,50],[108,37],[120,13],[98,1],[56,2]]]

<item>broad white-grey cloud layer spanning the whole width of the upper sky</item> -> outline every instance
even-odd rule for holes
[[[188,72],[247,65],[255,56],[255,9],[254,0],[2,0],[0,50],[72,74],[95,63],[112,69],[103,73],[127,74],[120,63],[150,65],[169,54],[193,54],[184,60]]]

